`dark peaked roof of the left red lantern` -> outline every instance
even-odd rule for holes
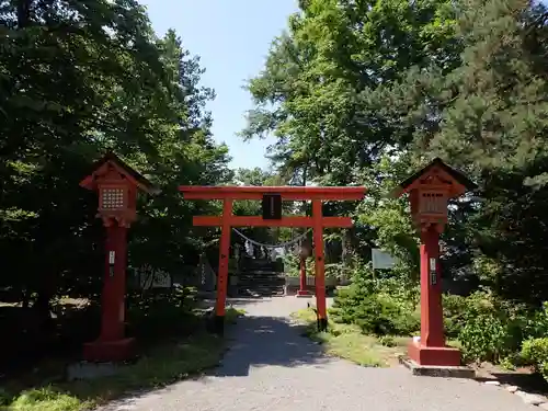
[[[80,182],[80,186],[88,190],[96,190],[96,180],[106,173],[111,167],[114,167],[117,172],[124,175],[130,183],[135,184],[139,190],[147,194],[158,194],[160,190],[156,187],[147,178],[140,174],[137,170],[129,167],[118,156],[110,151],[103,158],[93,163],[93,171],[90,175]]]

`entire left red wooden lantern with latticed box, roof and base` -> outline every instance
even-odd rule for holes
[[[101,298],[101,334],[84,344],[87,361],[124,361],[134,355],[134,339],[125,338],[125,290],[127,229],[137,217],[137,191],[153,193],[152,184],[109,153],[80,182],[99,194],[98,217],[106,228],[105,272]]]

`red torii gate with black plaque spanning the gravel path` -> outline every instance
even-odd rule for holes
[[[318,328],[328,328],[326,306],[326,267],[323,259],[323,228],[352,227],[350,217],[324,217],[322,201],[359,201],[366,189],[353,187],[307,187],[307,186],[193,186],[181,185],[179,191],[186,199],[222,199],[221,216],[195,216],[194,226],[220,227],[219,270],[217,275],[217,300],[215,305],[216,330],[224,332],[225,306],[227,299],[228,259],[230,231],[232,227],[312,227],[316,266],[316,305]],[[262,216],[235,216],[233,202],[256,199],[263,202]],[[311,201],[312,216],[282,216],[283,201]]]

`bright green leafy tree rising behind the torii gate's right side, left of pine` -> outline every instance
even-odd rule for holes
[[[414,123],[433,128],[435,122],[425,122],[421,111],[406,110],[399,103],[412,100],[403,90],[398,95],[391,89],[411,77],[407,71],[411,68],[420,73],[437,64],[446,73],[458,66],[461,46],[454,36],[456,13],[450,4],[301,2],[287,32],[273,43],[263,71],[249,83],[256,107],[249,113],[242,136],[274,134],[273,163],[299,183],[377,186],[376,173],[387,172],[396,182],[403,176],[402,167],[411,168],[411,156],[404,157],[407,163],[400,159],[395,170],[377,164],[404,153],[413,140]],[[397,233],[409,231],[404,225],[393,226],[404,221],[403,216],[391,219],[387,231],[395,236],[391,244],[386,243],[388,235],[377,241],[378,218],[391,213],[381,217],[377,208],[386,190],[373,190],[369,197],[375,198],[359,208],[352,203],[326,205],[329,215],[352,215],[359,221],[344,237],[365,261],[376,242],[395,248],[401,240],[396,240]],[[339,233],[334,237],[342,240]]]

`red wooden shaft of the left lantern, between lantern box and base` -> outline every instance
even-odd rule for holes
[[[101,304],[101,334],[99,341],[124,339],[127,227],[115,221],[106,227],[105,273]],[[111,259],[114,259],[112,261]],[[111,264],[114,262],[114,264]]]

